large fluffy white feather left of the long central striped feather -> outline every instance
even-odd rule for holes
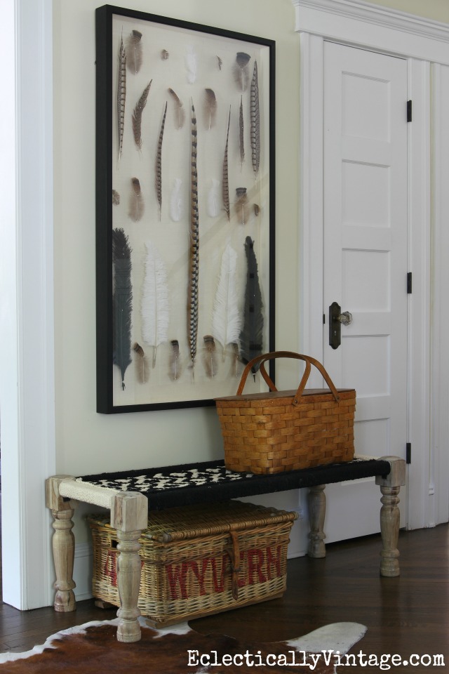
[[[145,279],[142,286],[142,338],[153,347],[153,367],[156,361],[156,349],[168,341],[168,287],[166,267],[152,244],[147,242],[145,257]]]

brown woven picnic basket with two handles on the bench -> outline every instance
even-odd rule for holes
[[[265,370],[267,360],[286,357],[305,362],[297,390],[278,391]],[[267,393],[243,395],[251,369],[269,385]],[[329,389],[305,389],[311,365]],[[354,389],[336,389],[323,365],[310,356],[274,351],[251,360],[243,371],[237,395],[215,398],[229,470],[281,473],[354,458]]]

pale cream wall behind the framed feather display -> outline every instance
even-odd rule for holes
[[[215,408],[95,411],[94,28],[102,4],[60,1],[54,9],[56,462],[58,473],[72,475],[222,456]],[[297,350],[299,43],[291,1],[120,4],[276,40],[276,345]],[[295,374],[282,364],[278,373],[281,386],[293,388]],[[297,494],[278,501],[297,505]]]

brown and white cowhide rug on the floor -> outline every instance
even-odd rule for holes
[[[141,618],[142,640],[116,640],[113,621],[58,632],[26,653],[0,654],[0,674],[335,674],[333,654],[345,654],[366,627],[335,623],[286,642],[246,642],[203,635],[187,623],[155,630]]]

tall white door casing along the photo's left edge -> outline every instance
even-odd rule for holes
[[[44,498],[44,480],[56,473],[53,0],[8,0],[3,18],[13,57],[0,157],[3,599],[34,609],[51,604],[54,581]]]

